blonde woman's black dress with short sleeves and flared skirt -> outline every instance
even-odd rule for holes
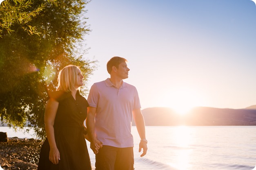
[[[87,117],[87,100],[76,93],[56,91],[50,95],[59,102],[54,121],[54,135],[60,152],[58,164],[49,160],[48,139],[42,144],[38,170],[91,170],[91,162],[85,142],[85,130],[82,126]]]

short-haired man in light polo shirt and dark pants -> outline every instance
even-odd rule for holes
[[[139,152],[143,149],[143,153],[140,156],[147,153],[138,92],[136,87],[123,81],[128,78],[129,70],[126,59],[111,58],[107,63],[110,78],[94,83],[89,92],[86,124],[92,139],[91,149],[96,153],[96,170],[134,170],[132,118],[141,138]],[[98,151],[96,139],[103,145]]]

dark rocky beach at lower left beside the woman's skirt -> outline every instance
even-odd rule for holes
[[[0,166],[4,170],[37,170],[42,140],[9,138],[0,142]]]

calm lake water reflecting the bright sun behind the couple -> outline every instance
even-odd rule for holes
[[[0,127],[8,137],[31,134]],[[147,155],[140,157],[134,135],[135,170],[252,170],[256,165],[256,126],[146,126]],[[87,142],[89,148],[89,142]],[[95,156],[89,149],[94,167]]]

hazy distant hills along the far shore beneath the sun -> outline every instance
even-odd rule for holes
[[[195,107],[185,115],[170,108],[154,107],[142,110],[146,126],[245,126],[256,125],[256,109],[218,109]],[[134,125],[134,124],[133,124]]]

